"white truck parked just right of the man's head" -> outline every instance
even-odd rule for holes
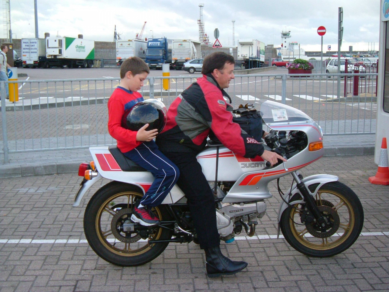
[[[238,57],[245,69],[265,66],[265,43],[254,39],[238,40]]]

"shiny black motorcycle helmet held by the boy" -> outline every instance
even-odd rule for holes
[[[122,126],[131,131],[138,131],[145,124],[149,124],[147,131],[157,129],[160,133],[166,125],[166,114],[163,102],[147,99],[124,112]]]

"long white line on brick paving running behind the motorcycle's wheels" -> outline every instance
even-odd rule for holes
[[[306,234],[305,237],[313,237],[311,234]],[[339,237],[342,233],[335,233],[332,237]],[[389,236],[388,231],[383,232],[361,232],[359,236]],[[252,237],[249,236],[235,236],[235,240],[267,240],[267,239],[277,239],[277,234],[267,235],[259,234]],[[282,234],[279,236],[280,239],[285,238]],[[118,239],[109,238],[109,242],[121,242]],[[140,239],[138,242],[147,242],[147,239]],[[55,243],[88,243],[86,239],[0,239],[0,243],[3,244],[55,244]]]

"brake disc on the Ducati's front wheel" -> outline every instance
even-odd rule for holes
[[[324,204],[323,204],[324,205]],[[311,223],[305,225],[310,234],[318,238],[326,238],[333,236],[338,230],[340,225],[340,218],[338,212],[329,206],[318,206],[319,212],[326,219],[326,232],[321,232],[321,227],[319,223]]]

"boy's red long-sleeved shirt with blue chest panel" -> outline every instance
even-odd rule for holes
[[[127,130],[121,125],[124,111],[131,109],[138,102],[144,99],[138,92],[127,90],[121,86],[112,92],[108,101],[108,132],[116,139],[117,148],[123,153],[133,150],[142,141],[137,141],[137,131]]]

